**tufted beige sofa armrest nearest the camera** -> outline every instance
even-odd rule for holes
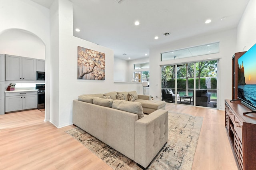
[[[135,122],[135,162],[146,168],[168,140],[168,111],[156,110]]]

